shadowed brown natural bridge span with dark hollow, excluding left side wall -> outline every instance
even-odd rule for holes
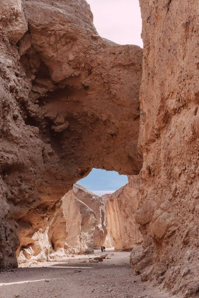
[[[92,167],[138,173],[141,49],[99,37],[84,0],[23,7],[29,33],[19,42],[20,61],[32,80],[27,123],[39,127],[71,176]]]

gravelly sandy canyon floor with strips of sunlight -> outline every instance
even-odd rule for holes
[[[90,263],[93,256],[76,256],[37,263],[0,273],[1,298],[166,298],[134,276],[129,252],[107,251],[103,262]],[[95,251],[95,256],[100,255]]]

